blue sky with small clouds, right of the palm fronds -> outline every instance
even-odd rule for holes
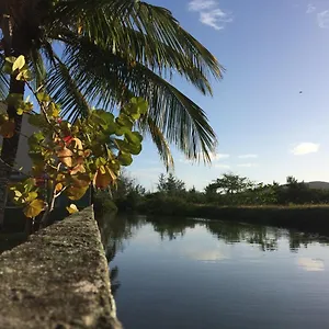
[[[264,182],[329,181],[328,0],[149,2],[170,9],[226,68],[213,98],[174,81],[206,111],[219,143],[212,167],[174,151],[175,175],[200,190],[227,171]],[[128,171],[156,189],[164,167],[149,140]]]

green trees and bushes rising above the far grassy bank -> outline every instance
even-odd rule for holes
[[[224,173],[209,182],[203,191],[188,189],[184,181],[172,173],[160,174],[156,192],[148,192],[134,179],[122,175],[113,200],[120,208],[157,208],[178,204],[217,206],[264,206],[328,204],[329,190],[313,189],[304,181],[287,177],[285,184],[252,182],[247,177]]]

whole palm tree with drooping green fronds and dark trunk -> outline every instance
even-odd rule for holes
[[[45,86],[70,120],[86,115],[89,104],[112,110],[136,94],[149,102],[140,129],[167,167],[169,144],[209,161],[216,136],[204,111],[168,80],[179,73],[212,94],[209,77],[222,78],[223,69],[167,9],[136,0],[1,0],[0,31],[0,66],[24,55],[36,87]],[[24,94],[24,83],[0,73],[0,97],[8,92]],[[16,128],[3,140],[0,205],[20,137],[15,112],[8,107]]]

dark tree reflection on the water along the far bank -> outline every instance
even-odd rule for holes
[[[107,215],[99,223],[109,261],[113,260],[117,251],[123,250],[124,241],[129,240],[145,224],[151,224],[161,240],[174,240],[183,237],[188,229],[194,229],[197,226],[205,227],[209,234],[225,243],[247,242],[258,246],[262,251],[277,250],[281,239],[288,241],[290,250],[293,252],[298,251],[302,247],[307,248],[314,242],[329,245],[327,237],[314,234],[234,222]],[[211,259],[214,257],[209,256]]]

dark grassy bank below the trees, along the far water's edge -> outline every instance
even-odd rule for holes
[[[144,203],[139,211],[147,215],[245,222],[329,236],[329,205],[217,206],[158,200]]]

